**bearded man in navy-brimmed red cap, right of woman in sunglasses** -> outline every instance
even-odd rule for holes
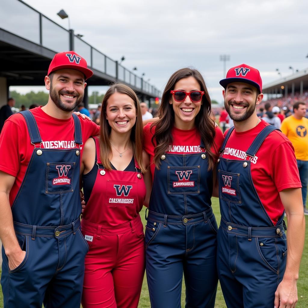
[[[257,69],[233,67],[220,84],[234,122],[217,163],[217,269],[225,302],[228,308],[294,307],[305,234],[294,148],[257,117],[263,98]]]

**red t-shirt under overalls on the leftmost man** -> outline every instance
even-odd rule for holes
[[[43,140],[42,148],[75,148],[74,119],[60,120],[47,115],[42,106],[31,109],[39,127]],[[99,134],[99,126],[90,120],[80,120],[83,144],[90,136]],[[18,189],[25,176],[34,145],[31,144],[25,118],[20,113],[10,116],[0,135],[0,170],[15,176],[15,182],[10,191],[10,205],[12,205]],[[82,153],[81,146],[81,153]]]

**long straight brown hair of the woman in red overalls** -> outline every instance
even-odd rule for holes
[[[102,111],[100,114],[100,137],[99,137],[99,148],[100,148],[100,160],[105,167],[105,169],[111,169],[110,159],[111,159],[111,144],[109,140],[109,136],[111,133],[111,126],[106,119],[106,110],[107,110],[107,103],[108,99],[112,94],[115,92],[125,94],[130,97],[136,107],[136,123],[132,127],[130,139],[133,145],[133,154],[134,158],[137,161],[141,172],[146,172],[146,168],[143,163],[142,157],[142,115],[141,115],[141,108],[139,99],[136,93],[128,86],[122,83],[115,83],[113,84],[106,92],[103,102],[102,102]]]

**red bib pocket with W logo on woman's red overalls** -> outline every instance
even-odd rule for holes
[[[137,196],[137,182],[107,181],[106,205],[135,206]]]

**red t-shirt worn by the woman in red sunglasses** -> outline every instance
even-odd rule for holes
[[[143,128],[143,143],[144,143],[144,150],[147,152],[151,157],[151,173],[152,178],[154,177],[155,171],[155,164],[153,163],[154,158],[154,145],[152,144],[152,136],[155,132],[155,127],[151,130],[150,126],[152,123],[148,123]],[[201,136],[197,131],[197,128],[189,129],[189,130],[182,130],[173,127],[172,128],[172,137],[173,137],[173,144],[169,145],[169,149],[167,153],[176,153],[176,154],[183,154],[183,153],[200,153],[200,142]],[[221,129],[216,127],[216,136],[214,139],[215,145],[212,146],[212,152],[218,155],[218,152],[221,148],[221,145],[224,141],[224,136],[222,135]],[[155,140],[154,140],[155,143]],[[156,143],[155,143],[156,145]]]

